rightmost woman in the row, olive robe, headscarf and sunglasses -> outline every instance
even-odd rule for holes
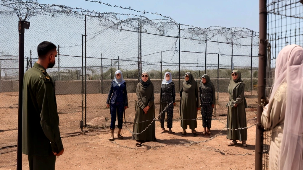
[[[247,129],[246,129],[246,100],[244,97],[245,84],[241,80],[241,72],[232,70],[231,80],[228,86],[229,102],[227,111],[227,135],[226,138],[232,140],[229,146],[237,144],[236,140],[242,141],[246,147]],[[245,129],[239,129],[245,128]]]

